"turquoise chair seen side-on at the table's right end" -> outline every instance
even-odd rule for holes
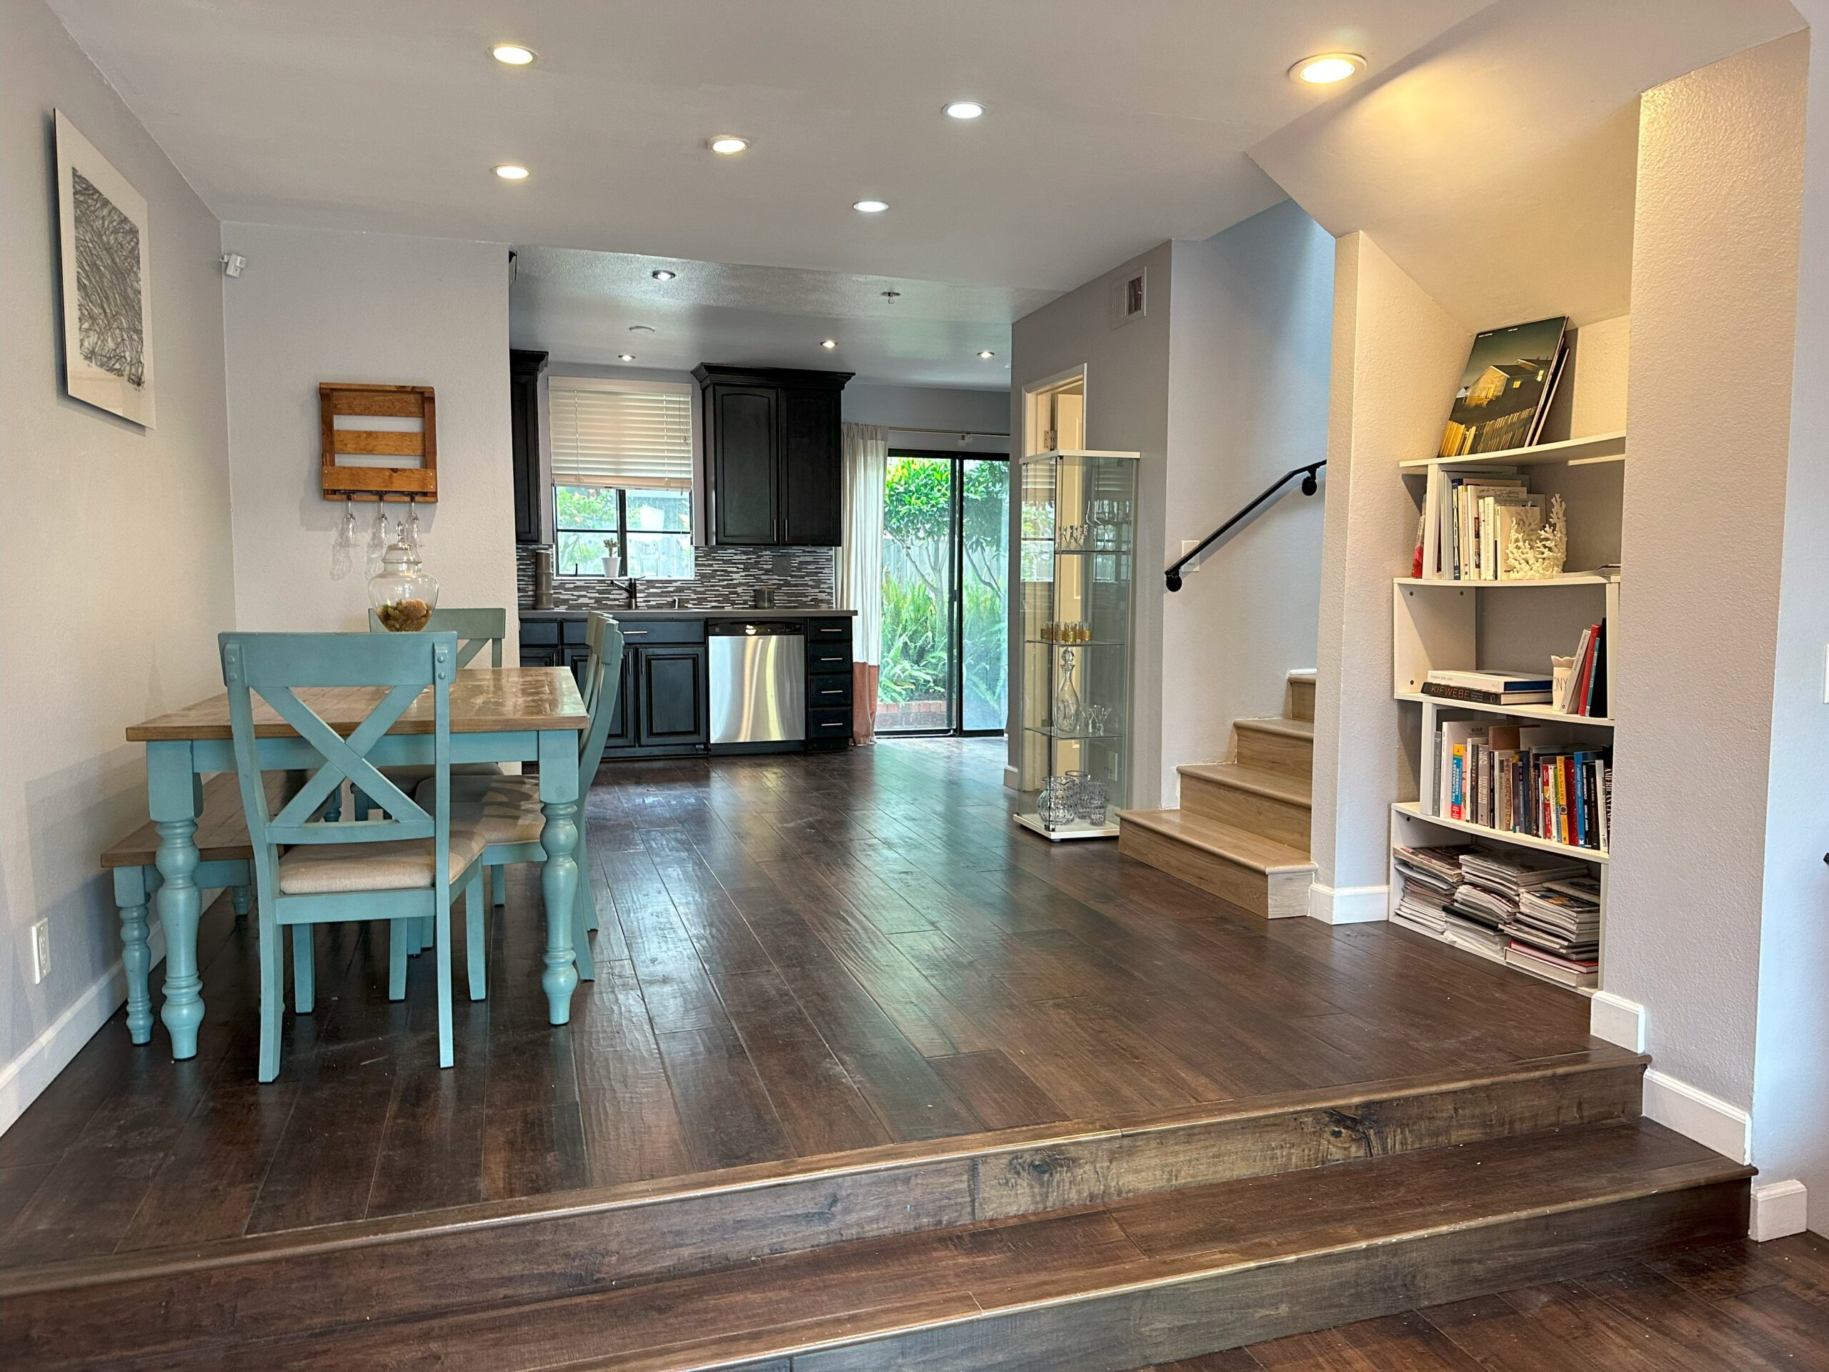
[[[578,799],[591,794],[596,768],[604,763],[604,746],[609,743],[609,721],[616,713],[616,691],[622,682],[622,627],[615,618],[593,611],[585,626],[585,681],[583,697],[591,702],[591,724],[578,743]],[[421,790],[424,790],[421,787]],[[452,794],[457,798],[454,814],[466,825],[481,829],[488,847],[483,849],[483,865],[501,874],[501,869],[518,862],[545,862],[545,849],[540,845],[540,831],[545,816],[540,809],[538,776],[503,777],[455,777]],[[596,979],[596,962],[591,955],[591,931],[596,929],[596,898],[591,882],[591,856],[585,841],[589,823],[578,823],[578,895],[572,902],[572,953],[578,964],[580,981]],[[501,904],[501,902],[496,902]],[[466,907],[470,909],[470,907]],[[465,918],[466,960],[470,975],[470,999],[481,1001],[488,993],[487,957],[488,931],[485,920]]]

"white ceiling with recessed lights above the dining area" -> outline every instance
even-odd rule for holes
[[[1483,4],[51,0],[223,220],[1054,291],[1278,201],[1244,150],[1326,99],[1289,62]]]

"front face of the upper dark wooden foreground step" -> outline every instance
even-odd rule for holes
[[[249,1337],[552,1301],[836,1244],[1631,1118],[1646,1061],[1600,1045],[1480,1072],[5,1270],[0,1365],[201,1357]]]

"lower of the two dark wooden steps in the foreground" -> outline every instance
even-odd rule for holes
[[[267,1341],[243,1361],[1103,1372],[1723,1242],[1745,1233],[1750,1174],[1611,1120]]]

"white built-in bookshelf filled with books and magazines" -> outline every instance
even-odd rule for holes
[[[1566,713],[1551,704],[1507,706],[1452,701],[1427,695],[1423,682],[1428,681],[1430,671],[1438,670],[1540,670],[1549,675],[1551,655],[1571,655],[1584,627],[1606,622],[1602,651],[1606,655],[1608,699],[1610,702],[1619,699],[1619,677],[1613,664],[1624,580],[1619,567],[1624,461],[1626,434],[1610,432],[1478,457],[1428,457],[1397,465],[1419,512],[1427,503],[1427,485],[1439,479],[1434,468],[1476,466],[1529,476],[1531,490],[1556,494],[1566,501],[1569,558],[1560,576],[1538,580],[1394,578],[1392,697],[1399,702],[1405,756],[1412,759],[1410,790],[1414,796],[1392,805],[1390,913],[1396,913],[1403,898],[1405,880],[1396,862],[1396,849],[1460,843],[1471,838],[1492,849],[1549,852],[1591,867],[1600,884],[1604,946],[1610,854],[1604,849],[1449,818],[1449,807],[1436,794],[1439,772],[1434,741],[1447,721],[1503,723],[1509,719],[1518,724],[1556,724],[1566,728],[1573,748],[1602,750],[1611,748],[1615,719],[1611,715]],[[1494,591],[1505,595],[1492,595]],[[1443,942],[1492,957],[1489,951],[1452,937],[1443,937]],[[1502,960],[1502,955],[1492,960]],[[1522,968],[1518,973],[1533,975]],[[1600,984],[1606,984],[1604,966],[1600,968]]]

